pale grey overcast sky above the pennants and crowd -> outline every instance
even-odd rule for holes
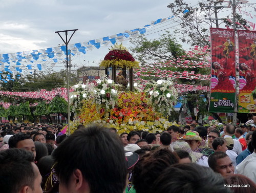
[[[165,0],[1,0],[0,54],[56,47],[63,44],[54,33],[60,30],[79,29],[71,39],[74,44],[143,27],[152,20],[172,16],[167,8],[169,3]],[[191,3],[191,6],[196,4]],[[256,23],[256,17],[248,20]],[[162,25],[161,29],[171,25],[174,24]],[[157,38],[159,34],[148,37]],[[129,42],[125,41],[124,45],[129,47]],[[106,53],[107,48],[94,49],[86,55],[76,56],[76,60],[81,65],[97,62]]]

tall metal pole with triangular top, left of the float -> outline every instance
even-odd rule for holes
[[[70,135],[70,104],[69,104],[69,61],[68,61],[68,44],[69,41],[71,39],[71,37],[74,35],[74,33],[77,31],[76,30],[64,30],[64,31],[57,31],[55,33],[58,33],[58,35],[60,36],[60,38],[62,39],[62,41],[65,43],[66,45],[66,70],[67,70],[67,94],[68,94],[68,132]],[[68,40],[68,32],[69,31],[73,31],[73,34],[70,36],[69,40]],[[61,37],[61,35],[59,34],[60,32],[65,32],[66,35],[66,41]]]

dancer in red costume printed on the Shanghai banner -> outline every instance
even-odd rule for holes
[[[215,84],[211,85],[211,89],[234,91],[235,82],[234,79],[232,78],[234,77],[232,69],[224,69],[223,66],[218,61],[214,61],[211,63],[211,69],[212,79],[215,78]]]

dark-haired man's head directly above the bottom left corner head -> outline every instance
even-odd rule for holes
[[[35,144],[30,136],[25,133],[18,133],[10,137],[8,141],[9,148],[26,149],[36,156]]]

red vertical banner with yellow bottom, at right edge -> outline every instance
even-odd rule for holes
[[[238,45],[238,112],[256,113],[256,31],[238,30]]]

